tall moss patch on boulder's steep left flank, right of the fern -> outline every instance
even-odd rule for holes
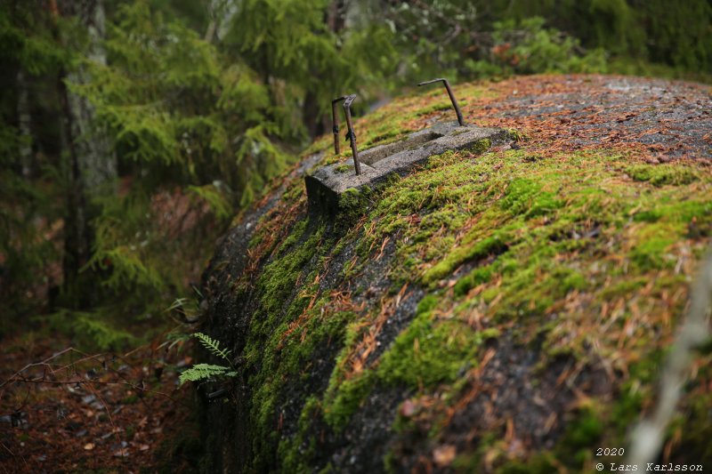
[[[271,453],[277,449],[279,439],[274,423],[287,382],[308,376],[314,352],[324,344],[338,344],[346,321],[354,317],[348,311],[330,309],[328,295],[312,300],[319,288],[313,282],[328,260],[325,253],[335,247],[326,244],[327,233],[324,222],[296,224],[279,242],[256,281],[254,291],[259,295],[259,306],[250,324],[245,358],[246,371],[252,374],[248,380],[253,387],[250,438],[258,470],[271,465],[274,459]],[[295,441],[299,446],[306,442]],[[285,459],[294,464],[292,447],[280,449]]]

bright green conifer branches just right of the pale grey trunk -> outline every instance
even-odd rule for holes
[[[119,8],[106,45],[109,65],[93,64],[96,80],[75,90],[134,173],[182,185],[220,177],[239,202],[285,165],[265,86],[197,32],[135,3]]]

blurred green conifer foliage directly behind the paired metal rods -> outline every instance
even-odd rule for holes
[[[356,18],[360,8],[338,0],[236,3],[226,51],[269,84],[271,116],[286,137],[303,139],[333,98],[357,92],[362,104],[397,81],[392,31]]]

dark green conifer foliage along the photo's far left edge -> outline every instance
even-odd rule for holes
[[[54,282],[48,263],[60,255],[51,237],[62,212],[53,200],[61,191],[61,173],[47,142],[58,137],[57,126],[35,120],[26,124],[29,134],[20,124],[30,110],[35,118],[56,111],[37,99],[53,100],[44,90],[46,77],[52,81],[68,60],[50,25],[34,3],[0,2],[0,311],[10,316],[44,299]],[[0,318],[0,337],[11,323],[12,317]]]

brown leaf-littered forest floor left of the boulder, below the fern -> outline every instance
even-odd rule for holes
[[[190,470],[201,446],[181,344],[87,354],[37,334],[0,352],[0,473]]]

